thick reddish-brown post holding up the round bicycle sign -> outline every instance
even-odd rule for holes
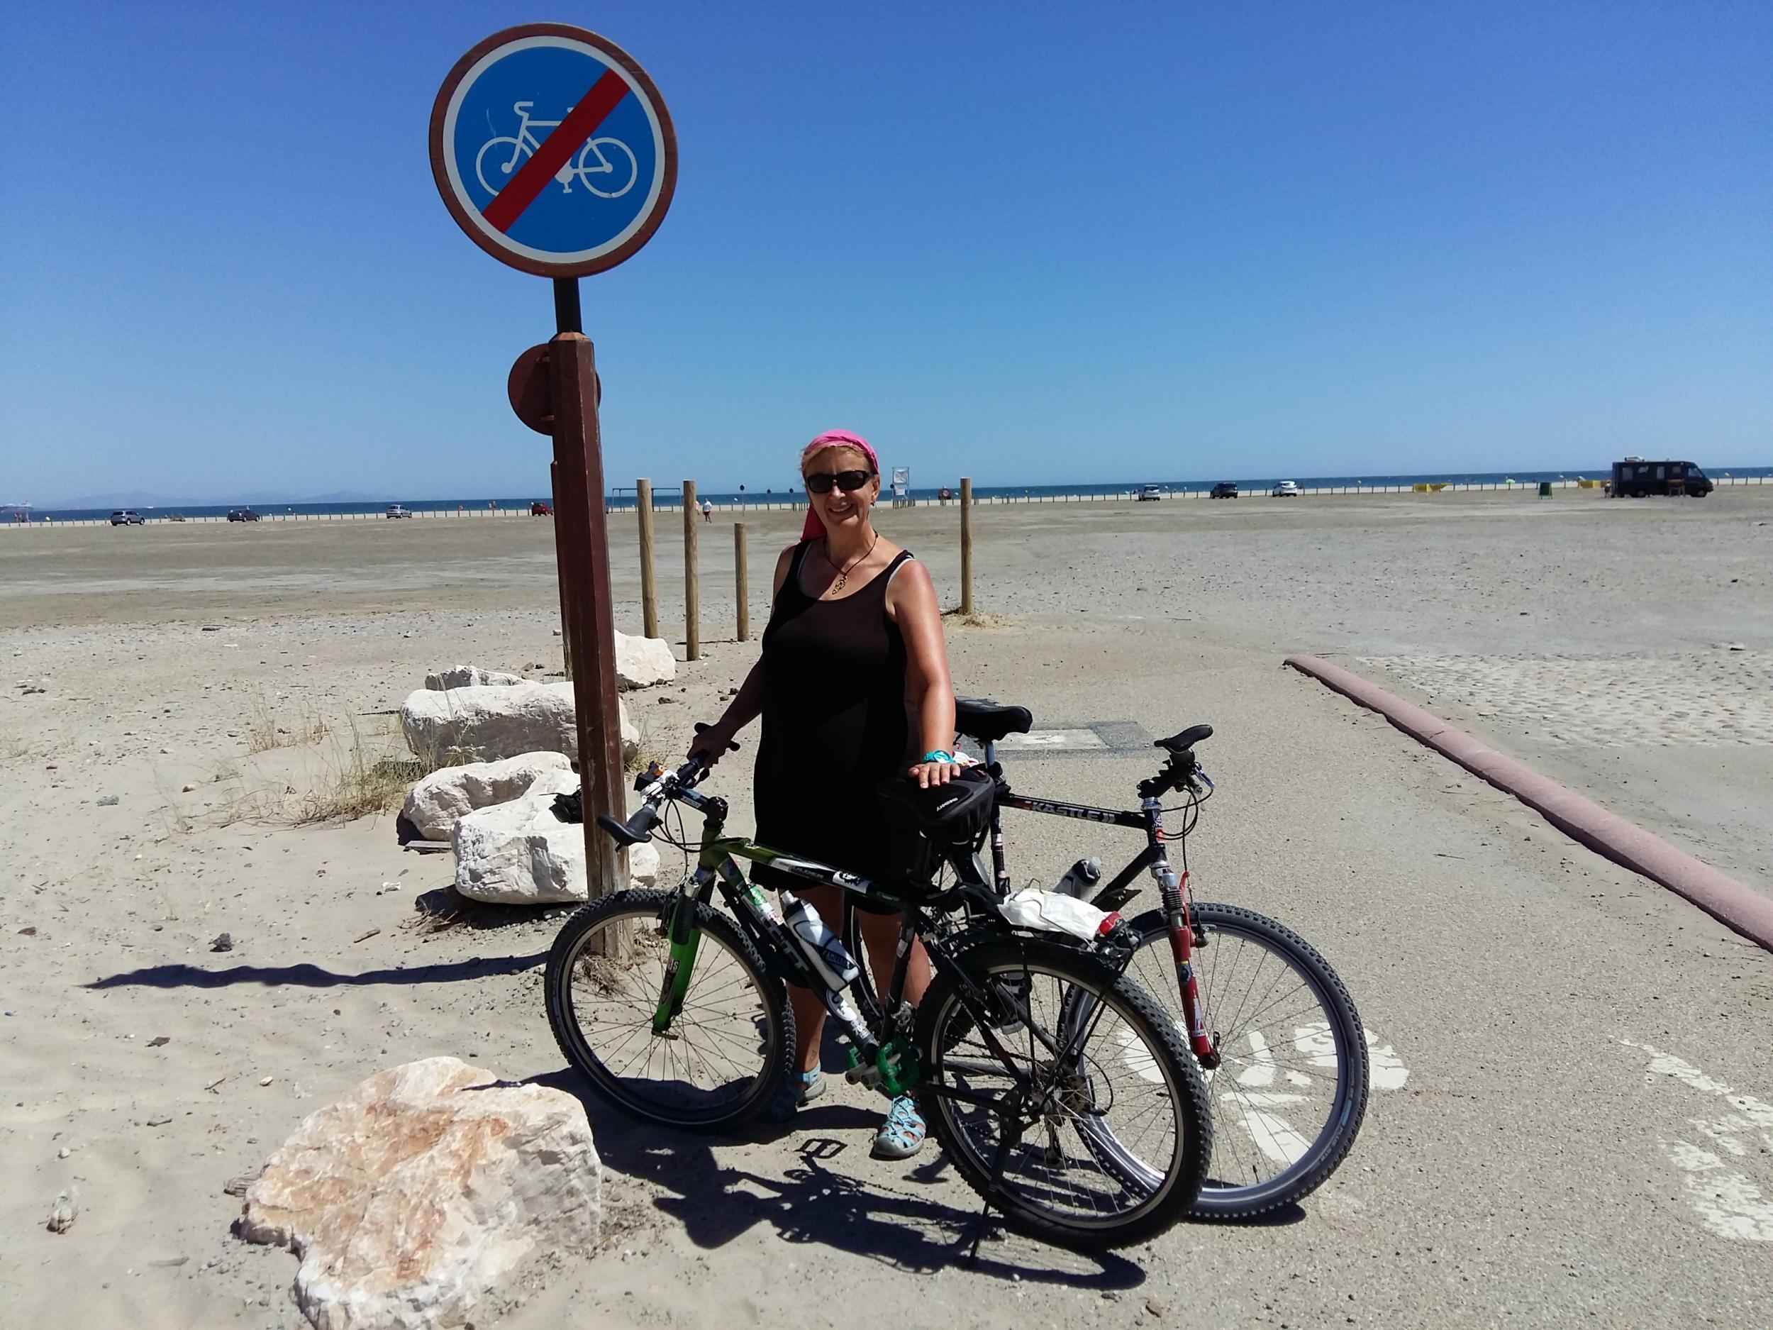
[[[608,521],[603,511],[603,449],[598,434],[598,369],[585,333],[562,332],[548,342],[553,442],[558,466],[555,536],[564,541],[578,773],[585,809],[585,874],[590,897],[624,881],[615,842],[598,814],[628,816],[622,778],[622,724],[615,697],[615,614],[610,594]]]

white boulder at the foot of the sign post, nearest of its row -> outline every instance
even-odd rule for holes
[[[651,842],[628,851],[631,887],[654,887],[658,871]],[[456,890],[493,904],[583,901],[585,828],[560,821],[551,794],[477,809],[456,823]]]

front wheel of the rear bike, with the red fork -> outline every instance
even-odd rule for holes
[[[1195,981],[1220,1066],[1207,1073],[1213,1169],[1195,1215],[1252,1218],[1316,1192],[1367,1112],[1367,1043],[1347,988],[1298,933],[1232,904],[1195,904]],[[1170,929],[1133,920],[1126,974],[1186,1029]]]

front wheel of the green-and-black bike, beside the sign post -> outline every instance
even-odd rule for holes
[[[738,926],[697,906],[688,982],[672,975],[674,892],[628,890],[567,919],[548,952],[548,1025],[567,1060],[635,1117],[715,1131],[743,1123],[780,1089],[794,1057],[794,1013]],[[674,982],[676,981],[676,982]],[[681,1005],[656,1030],[667,995]]]

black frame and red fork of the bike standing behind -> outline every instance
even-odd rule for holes
[[[1133,880],[1140,872],[1151,872],[1158,883],[1158,897],[1163,919],[1170,933],[1170,956],[1175,961],[1175,981],[1188,1016],[1188,1044],[1207,1071],[1220,1064],[1218,1044],[1207,1030],[1206,1009],[1200,1005],[1200,982],[1195,977],[1193,954],[1197,940],[1193,924],[1188,919],[1188,871],[1177,876],[1170,869],[1170,855],[1163,841],[1163,802],[1152,794],[1140,800],[1138,810],[1096,809],[1087,803],[1064,803],[1060,800],[1041,800],[1016,794],[1004,780],[1004,768],[996,761],[996,745],[984,741],[986,768],[998,777],[998,798],[991,807],[991,869],[996,878],[1000,896],[1009,896],[1009,865],[1004,858],[1004,818],[1002,809],[1021,809],[1025,812],[1044,812],[1051,818],[1076,818],[1080,821],[1101,823],[1106,826],[1126,826],[1145,833],[1145,848],[1133,855],[1131,862],[1121,869],[1113,880],[1090,897],[1097,910],[1115,910],[1133,897]],[[1206,778],[1206,773],[1202,773]],[[1207,782],[1211,786],[1211,780]]]

